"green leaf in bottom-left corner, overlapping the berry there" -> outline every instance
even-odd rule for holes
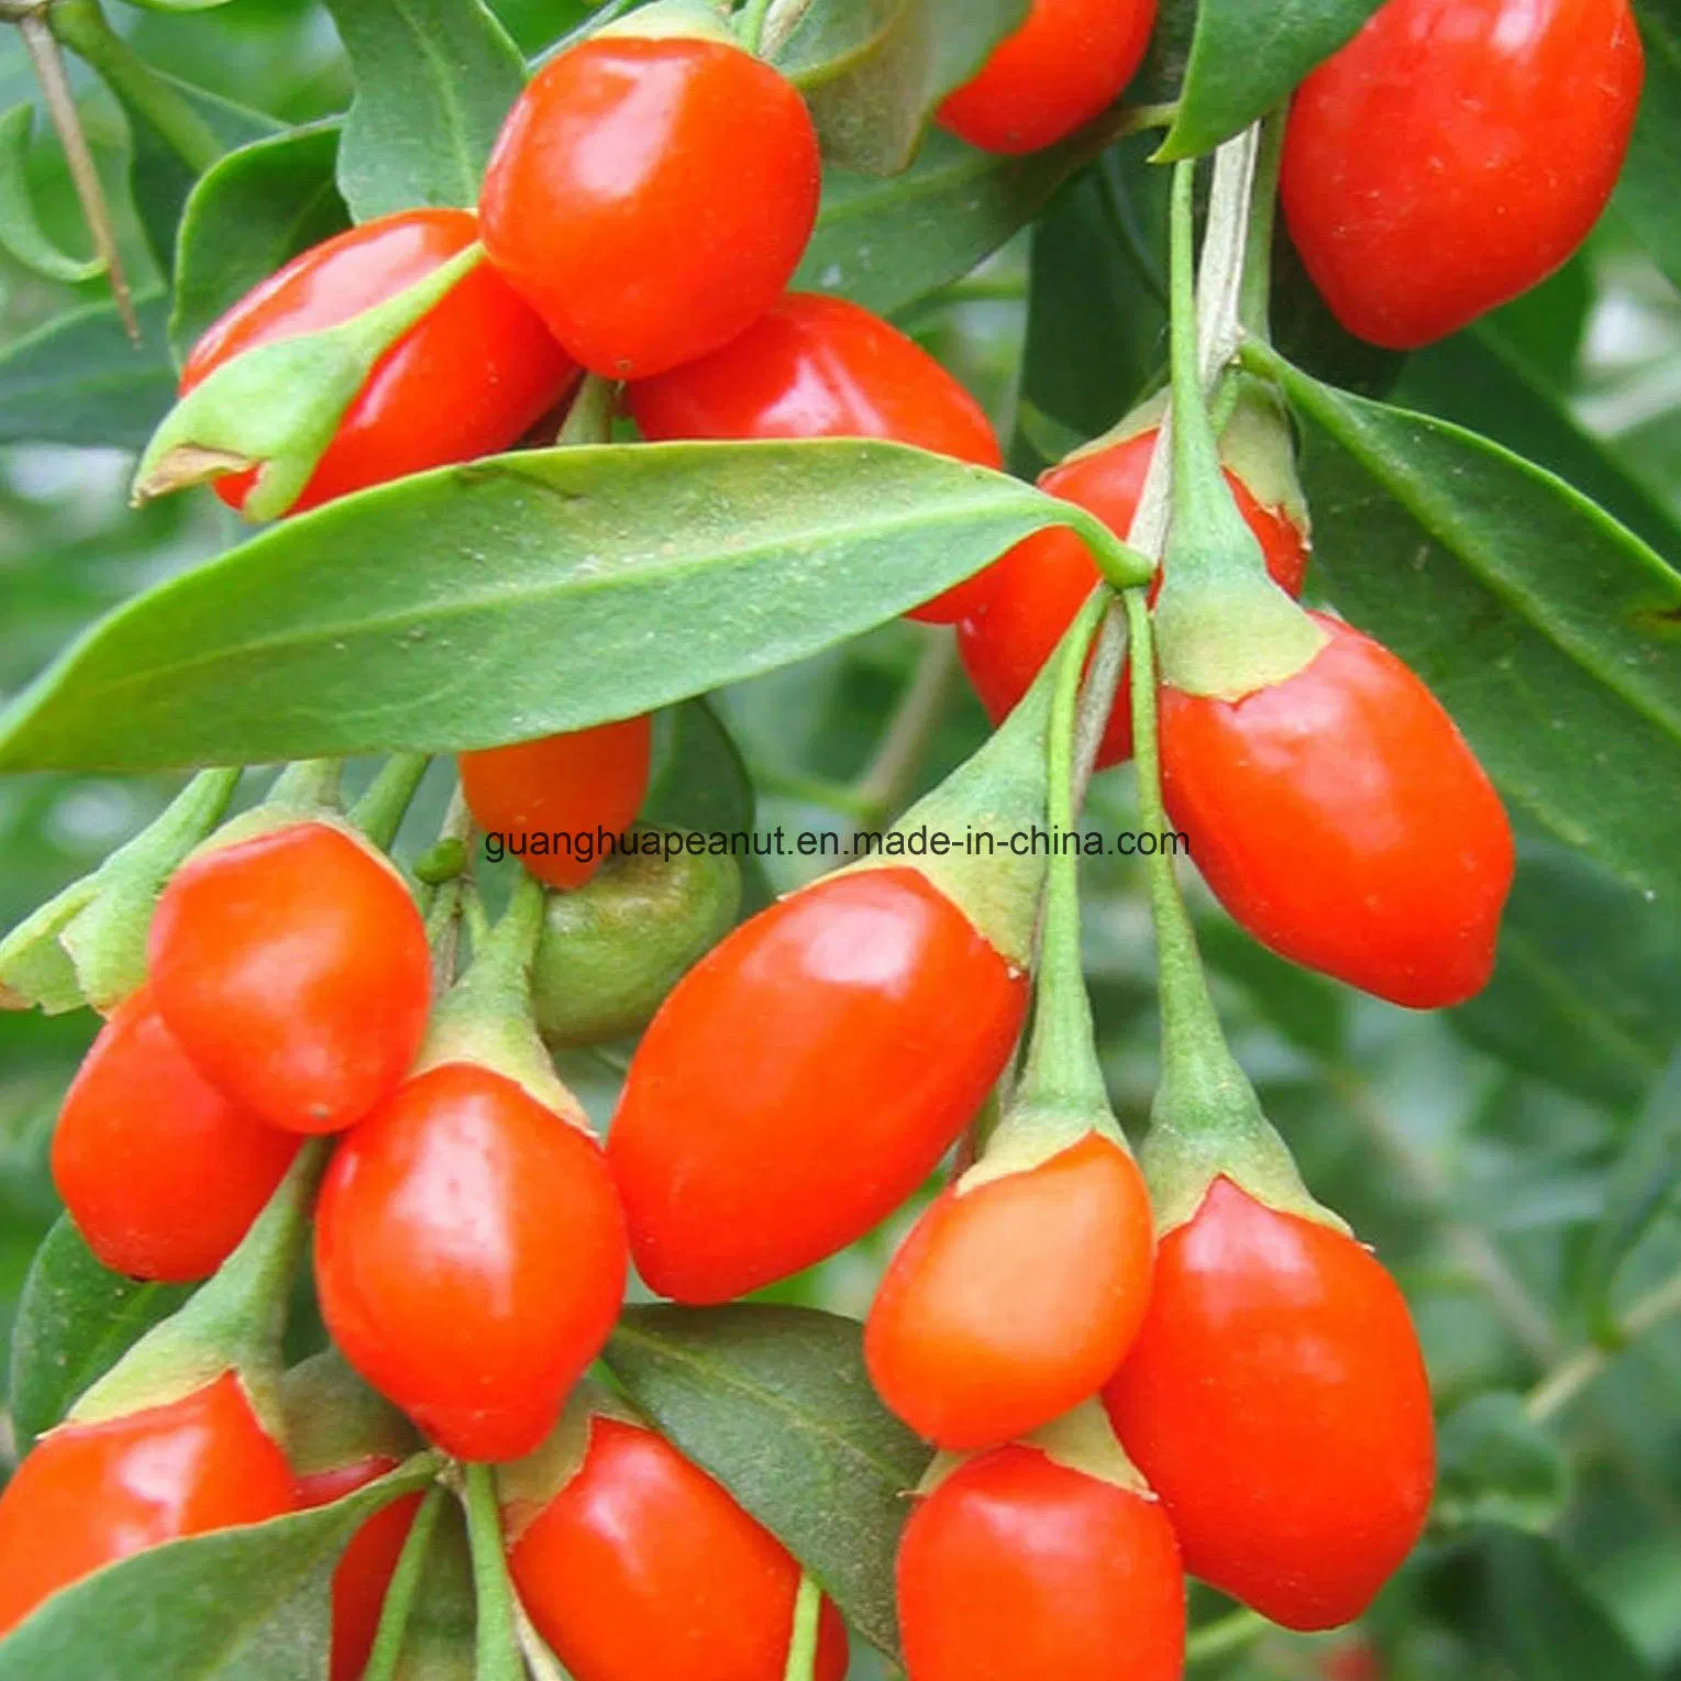
[[[171,1541],[62,1589],[0,1642],[0,1681],[299,1681],[326,1674],[333,1565],[422,1454],[331,1506]]]

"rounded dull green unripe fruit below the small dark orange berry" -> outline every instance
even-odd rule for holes
[[[551,893],[531,965],[536,1029],[551,1046],[640,1032],[682,973],[735,925],[731,857],[617,852],[573,893]]]

